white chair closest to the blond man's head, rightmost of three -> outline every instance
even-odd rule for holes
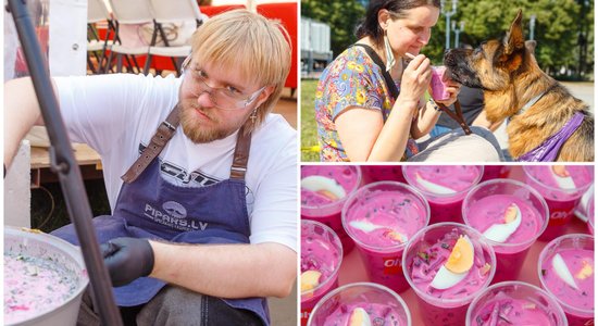
[[[208,16],[202,15],[199,11],[197,0],[149,0],[149,2],[153,13],[154,28],[144,71],[146,74],[149,72],[152,55],[160,55],[171,58],[176,73],[179,74],[180,68],[177,59],[182,61],[189,55],[191,53],[191,46],[170,45],[164,32],[164,25],[195,21],[196,27],[199,27]],[[163,46],[159,46],[159,35]]]

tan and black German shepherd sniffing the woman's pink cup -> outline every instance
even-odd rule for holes
[[[591,162],[594,116],[587,104],[539,68],[534,58],[535,41],[523,38],[521,16],[520,10],[502,41],[489,40],[473,50],[448,51],[445,65],[450,77],[484,90],[484,110],[489,122],[510,120],[507,134],[513,159],[544,146],[575,115],[581,125],[564,141],[555,161]]]

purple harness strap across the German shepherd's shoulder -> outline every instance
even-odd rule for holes
[[[557,159],[563,143],[582,125],[584,114],[575,113],[564,126],[555,135],[550,136],[543,143],[527,153],[519,156],[518,162],[552,162]]]

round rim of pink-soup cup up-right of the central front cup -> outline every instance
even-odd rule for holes
[[[524,184],[522,181],[514,180],[514,179],[509,179],[509,178],[496,178],[496,179],[490,179],[490,180],[486,180],[481,184],[477,184],[475,187],[471,189],[470,192],[468,192],[468,195],[463,199],[463,204],[461,205],[461,216],[463,217],[463,222],[465,223],[465,225],[471,226],[469,224],[468,215],[465,214],[465,206],[466,206],[465,203],[468,203],[471,200],[471,197],[473,197],[473,193],[475,193],[475,191],[479,190],[483,187],[486,187],[493,184],[499,184],[499,183],[512,184],[514,186],[525,188],[533,196],[536,197],[536,199],[541,203],[541,206],[544,208],[544,214],[543,212],[538,212],[540,215],[544,215],[544,222],[541,224],[541,227],[535,237],[532,237],[531,239],[524,242],[497,242],[486,238],[482,231],[479,230],[478,231],[482,234],[482,236],[484,236],[484,239],[486,239],[486,241],[488,241],[493,247],[496,246],[496,247],[503,247],[503,248],[513,248],[518,246],[525,246],[525,248],[528,248],[530,246],[534,244],[534,241],[536,241],[548,227],[548,221],[550,220],[550,210],[548,209],[548,204],[546,203],[546,200],[544,199],[544,197],[536,189],[534,189],[534,187],[527,184]]]

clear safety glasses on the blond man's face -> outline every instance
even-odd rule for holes
[[[244,109],[253,102],[265,89],[264,86],[247,97],[232,86],[212,87],[208,85],[205,73],[201,70],[189,68],[185,75],[187,75],[187,78],[190,78],[188,83],[190,83],[189,86],[194,96],[199,97],[207,92],[214,106],[223,110]]]

